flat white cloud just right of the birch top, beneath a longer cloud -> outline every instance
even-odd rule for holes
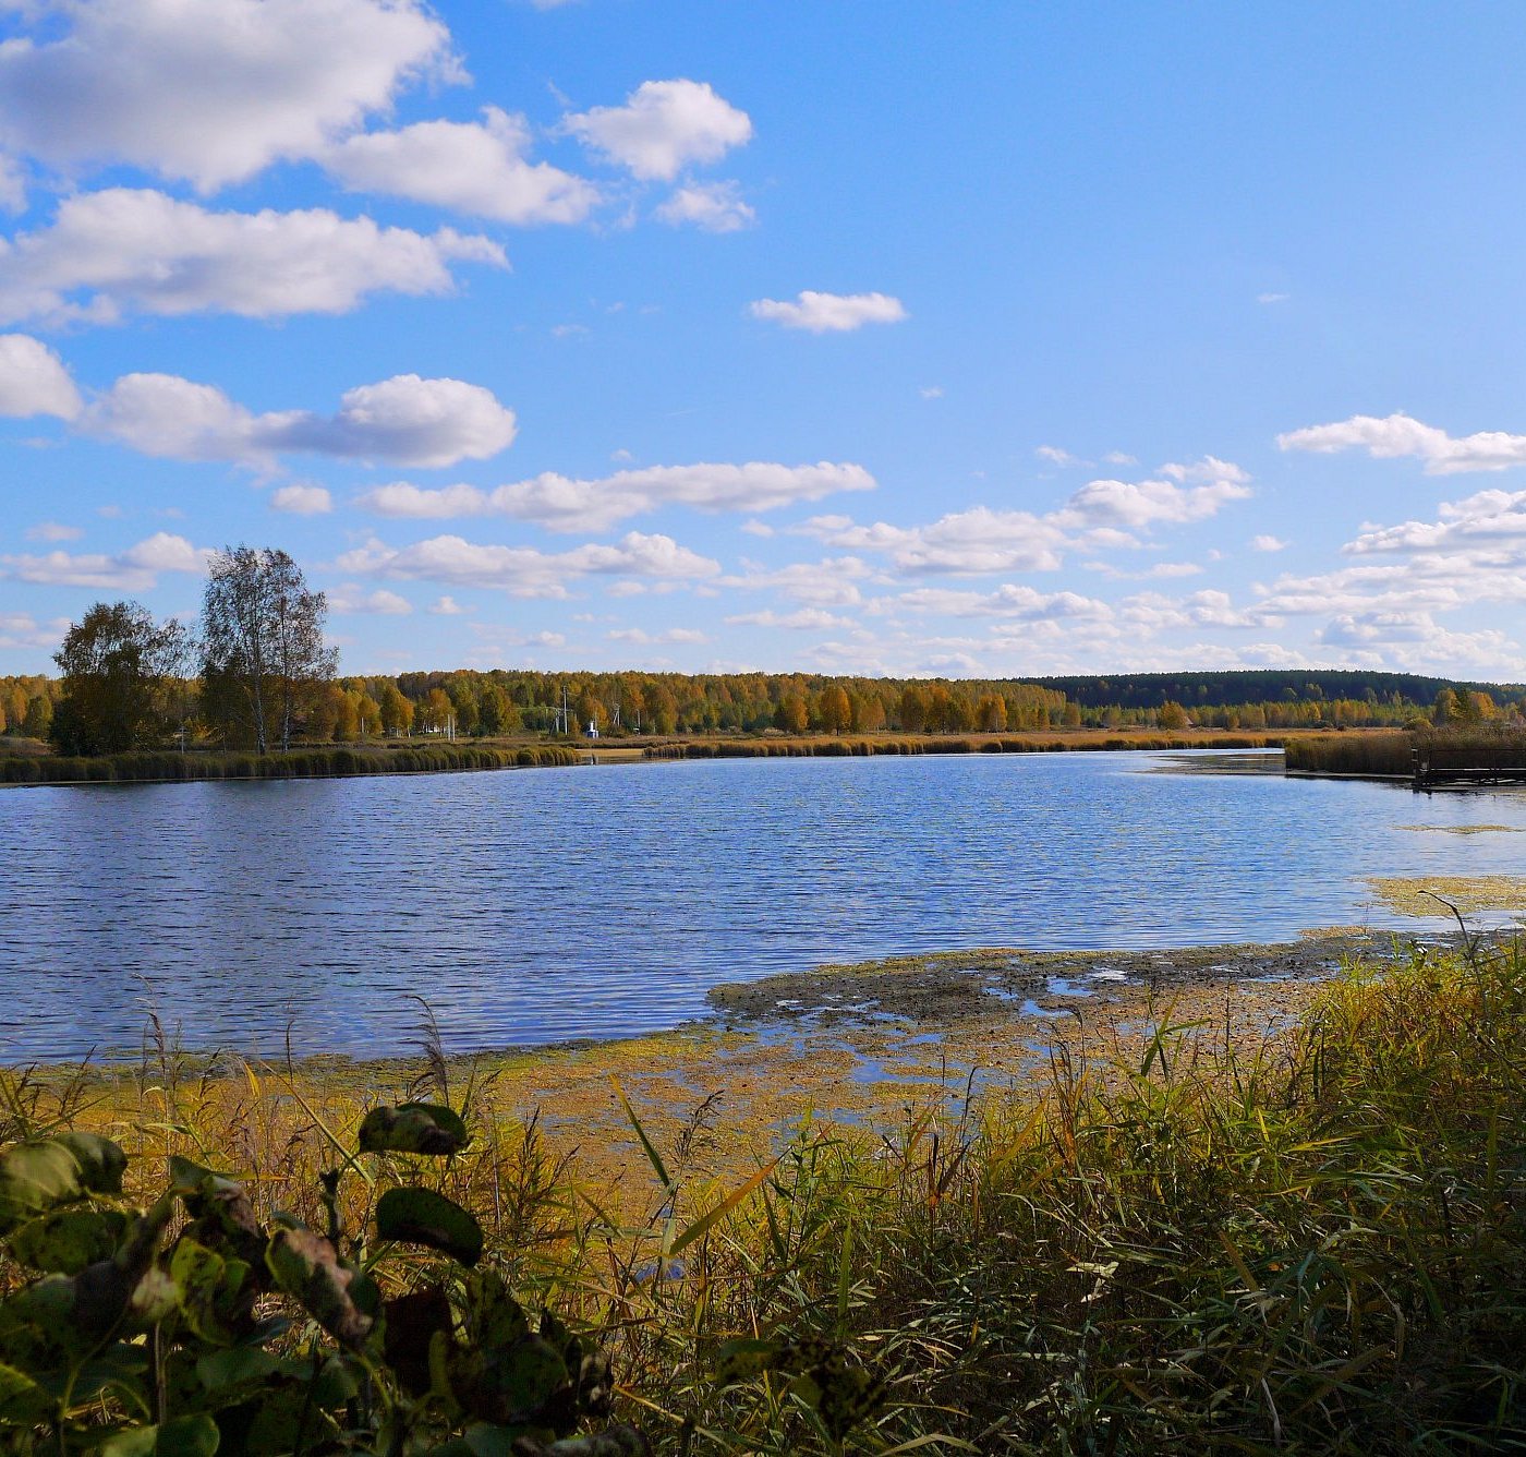
[[[433,536],[412,547],[380,541],[346,551],[339,568],[354,574],[450,586],[491,586],[513,597],[565,597],[569,580],[586,576],[693,582],[720,573],[720,564],[681,547],[671,536],[627,531],[613,545],[588,544],[548,553],[534,547],[478,545],[459,536]]]

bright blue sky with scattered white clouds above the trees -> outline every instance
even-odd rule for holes
[[[0,674],[1526,680],[1526,8],[0,0]]]

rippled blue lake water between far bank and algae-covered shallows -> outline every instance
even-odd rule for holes
[[[1408,926],[1367,875],[1515,874],[1520,794],[1158,773],[1143,753],[742,759],[0,791],[0,1060],[382,1055],[705,1016],[899,951]]]

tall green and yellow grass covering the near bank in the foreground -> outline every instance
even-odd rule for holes
[[[1497,1451],[1526,1442],[1523,1046],[1526,956],[1473,947],[1354,968],[1265,1040],[1224,1045],[1212,1017],[1158,1006],[1123,1055],[1058,1046],[1041,1084],[1009,1095],[848,1127],[803,1110],[722,1184],[693,1173],[694,1144],[723,1136],[705,1104],[661,1138],[632,1110],[644,1190],[604,1184],[528,1109],[491,1112],[487,1083],[438,1048],[414,1090],[464,1115],[470,1142],[449,1158],[353,1156],[368,1106],[406,1095],[401,1069],[397,1089],[375,1069],[198,1075],[163,1045],[136,1072],[6,1077],[0,1136],[105,1133],[139,1200],[163,1188],[166,1155],[217,1167],[266,1231],[301,1220],[319,1254],[345,1231],[339,1275],[388,1191],[423,1184],[470,1211],[479,1271],[612,1361],[610,1419],[659,1452]],[[336,1199],[322,1178],[339,1165]],[[38,1248],[11,1234],[12,1254]],[[169,1272],[162,1316],[124,1326],[137,1352],[172,1349],[177,1321],[215,1330]],[[438,1272],[372,1269],[420,1320]],[[447,1330],[439,1379],[414,1379],[432,1419],[464,1425],[446,1356],[478,1286],[444,1284],[459,1310],[429,1313]],[[24,1396],[41,1358],[20,1324],[0,1318],[0,1359]],[[334,1368],[322,1323],[267,1344],[298,1371]],[[215,1405],[238,1352],[185,1379],[165,1361],[162,1414]],[[92,1390],[90,1420],[148,1420],[110,1379]],[[359,1411],[342,1382],[327,1390],[336,1423]],[[343,1443],[325,1430],[327,1449]],[[275,1449],[241,1431],[223,1449]],[[46,1422],[35,1436],[41,1449]],[[27,1440],[17,1420],[6,1437]],[[461,1451],[507,1446],[478,1426]]]

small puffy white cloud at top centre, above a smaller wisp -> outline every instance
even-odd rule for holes
[[[719,162],[752,122],[703,81],[644,81],[623,107],[566,116],[563,130],[642,180],[671,182],[693,162]]]

